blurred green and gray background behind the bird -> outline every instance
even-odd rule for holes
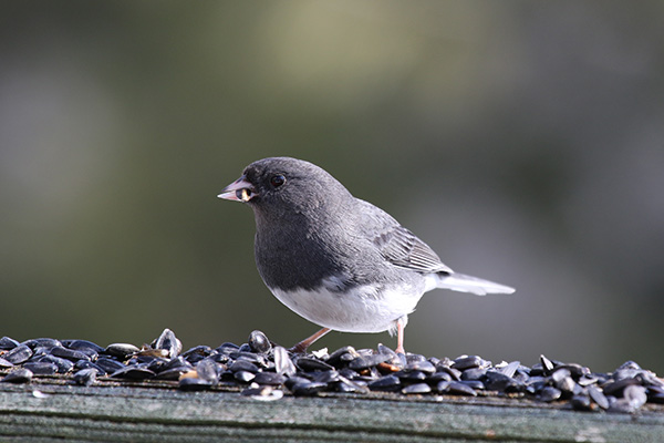
[[[517,288],[427,293],[407,350],[664,372],[664,2],[1,4],[0,336],[312,333],[216,197],[290,155]]]

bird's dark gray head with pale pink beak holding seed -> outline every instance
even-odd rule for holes
[[[257,217],[269,218],[321,213],[352,199],[347,189],[328,172],[291,157],[253,162],[219,197],[247,203]]]

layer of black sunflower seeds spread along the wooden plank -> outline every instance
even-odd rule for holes
[[[29,383],[34,377],[65,377],[92,385],[106,380],[170,381],[185,391],[239,389],[257,400],[284,393],[373,392],[393,395],[508,396],[560,403],[578,411],[633,413],[645,403],[664,403],[664,380],[627,361],[610,373],[540,356],[532,367],[519,361],[492,364],[477,356],[456,359],[397,354],[343,347],[328,353],[291,353],[253,331],[247,343],[218,348],[197,346],[181,352],[169,329],[151,344],[114,343],[105,348],[86,340],[0,339],[0,382]],[[98,379],[97,379],[98,378]]]

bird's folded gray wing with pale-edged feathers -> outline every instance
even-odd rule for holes
[[[404,228],[384,210],[362,202],[364,205],[365,229],[373,236],[373,243],[391,264],[417,272],[449,272],[453,270],[440,261],[434,250],[415,234]],[[373,228],[373,229],[372,229]]]

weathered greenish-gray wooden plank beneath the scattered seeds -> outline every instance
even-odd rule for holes
[[[42,394],[34,394],[39,390]],[[522,400],[284,396],[0,385],[0,441],[661,442],[664,414],[581,413]]]

